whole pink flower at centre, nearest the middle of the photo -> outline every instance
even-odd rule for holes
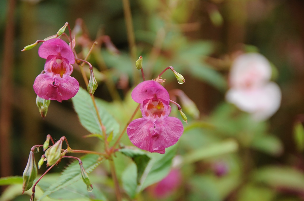
[[[168,91],[156,81],[144,81],[133,89],[132,98],[140,103],[143,117],[127,127],[131,142],[143,150],[165,153],[165,148],[174,145],[184,132],[181,121],[169,117]]]

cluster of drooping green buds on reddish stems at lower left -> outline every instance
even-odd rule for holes
[[[53,143],[52,146],[50,146],[50,141]],[[62,149],[63,141],[67,143],[67,149]],[[35,162],[34,157],[34,151],[35,148],[43,147],[44,154],[41,156],[41,159],[38,162],[38,169],[43,165],[44,161],[47,161],[47,167],[50,166],[45,173],[40,176],[40,178],[36,181],[35,184],[33,184],[34,180],[37,177],[37,165]],[[80,172],[83,182],[87,185],[87,190],[91,192],[93,190],[92,183],[88,177],[88,174],[86,173],[84,167],[82,166],[82,161],[77,157],[72,156],[66,156],[67,153],[73,152],[77,150],[71,150],[69,147],[69,144],[67,142],[67,139],[65,137],[61,137],[60,140],[58,140],[56,143],[54,143],[54,140],[50,135],[47,135],[46,141],[43,143],[43,145],[35,145],[31,148],[31,151],[29,153],[29,159],[26,164],[26,168],[23,172],[23,184],[22,184],[22,194],[32,188],[32,197],[31,200],[34,200],[35,197],[35,186],[40,181],[40,179],[55,165],[57,165],[62,158],[72,158],[77,159],[79,161],[80,165]],[[78,150],[79,151],[79,150]]]

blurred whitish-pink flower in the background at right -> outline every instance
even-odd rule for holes
[[[230,90],[226,100],[251,113],[255,120],[266,120],[280,107],[281,90],[269,81],[271,66],[261,54],[242,54],[235,59],[230,71]]]

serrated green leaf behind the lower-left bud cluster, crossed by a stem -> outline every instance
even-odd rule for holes
[[[92,172],[100,163],[102,163],[103,158],[98,155],[88,154],[81,157],[83,167],[87,173]],[[72,183],[81,179],[81,171],[79,167],[78,160],[71,163],[63,172],[62,175],[53,182],[48,188],[45,189],[43,196],[41,196],[37,201],[41,200],[45,196],[48,196],[54,192],[60,191],[61,189],[70,186]],[[39,184],[39,183],[38,183]],[[86,189],[86,187],[85,187]]]

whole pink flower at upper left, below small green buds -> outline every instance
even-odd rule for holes
[[[35,93],[46,100],[63,101],[74,97],[79,90],[79,83],[71,77],[75,63],[73,51],[66,42],[54,38],[43,42],[38,50],[41,58],[47,59],[44,74],[34,81]]]

